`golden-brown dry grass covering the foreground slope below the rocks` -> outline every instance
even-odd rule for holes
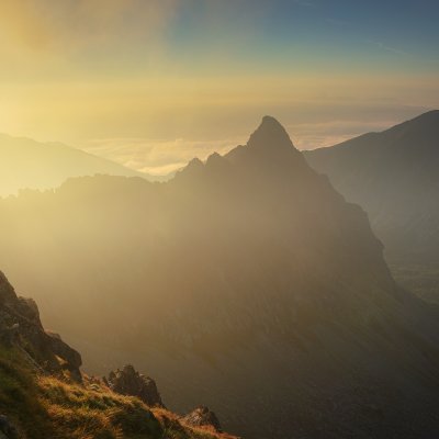
[[[166,409],[90,384],[38,375],[20,352],[0,347],[0,413],[23,439],[234,439],[191,428]]]

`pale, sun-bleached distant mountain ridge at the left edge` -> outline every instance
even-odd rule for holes
[[[20,189],[56,188],[70,177],[97,173],[155,179],[59,143],[0,134],[0,196]]]

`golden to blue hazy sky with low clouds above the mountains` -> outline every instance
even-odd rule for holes
[[[439,108],[436,0],[2,0],[0,132],[167,173],[266,114],[300,149]]]

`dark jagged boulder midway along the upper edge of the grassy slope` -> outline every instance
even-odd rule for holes
[[[149,406],[165,407],[156,382],[138,373],[133,365],[127,364],[122,370],[110,372],[108,383],[113,392],[121,395],[137,396]]]

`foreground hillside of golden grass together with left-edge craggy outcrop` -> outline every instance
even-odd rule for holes
[[[82,375],[79,353],[43,329],[35,302],[1,272],[0,315],[2,439],[234,439]]]

